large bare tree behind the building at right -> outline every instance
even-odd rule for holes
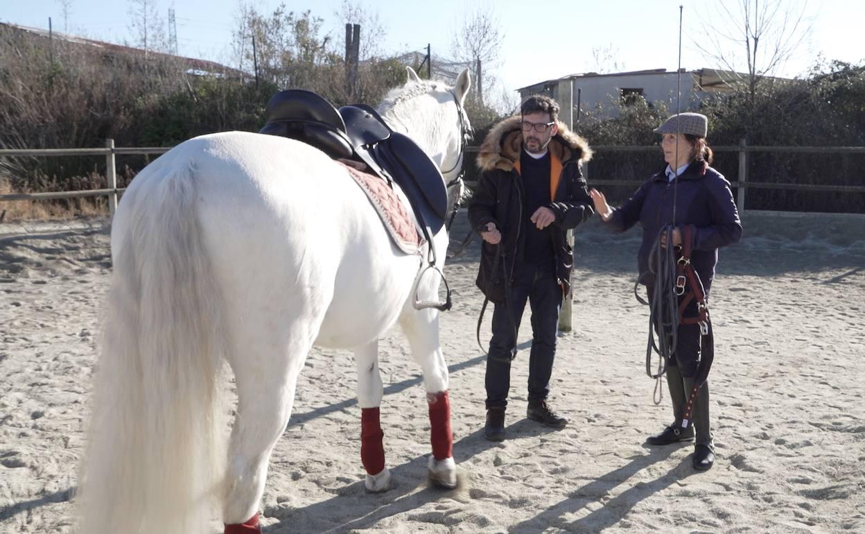
[[[811,31],[807,2],[800,0],[718,0],[701,16],[703,31],[695,46],[744,82],[753,102],[760,80],[791,58]],[[742,68],[742,67],[745,68]],[[746,76],[741,76],[741,71]],[[744,78],[744,80],[743,80]]]

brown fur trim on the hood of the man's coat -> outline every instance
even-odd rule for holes
[[[477,154],[478,169],[510,171],[514,168],[522,149],[521,120],[520,115],[514,115],[493,126]],[[556,122],[559,125],[559,133],[555,134],[550,142],[549,150],[561,159],[562,163],[573,159],[584,163],[592,159],[592,149],[589,148],[586,139],[568,130],[561,120]]]

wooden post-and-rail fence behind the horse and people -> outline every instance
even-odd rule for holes
[[[108,206],[113,215],[117,208],[119,193],[125,188],[117,187],[117,164],[115,156],[118,155],[149,155],[163,154],[170,151],[170,147],[142,146],[142,147],[116,147],[113,139],[106,139],[105,148],[51,148],[51,149],[11,149],[0,150],[0,158],[11,157],[35,157],[50,158],[60,156],[105,156],[107,188],[99,190],[80,191],[55,191],[44,193],[15,193],[0,195],[0,202],[14,200],[48,200],[60,198],[80,198],[88,196],[108,196]],[[477,146],[466,147],[467,152],[477,152]],[[657,151],[657,145],[644,146],[620,146],[620,145],[597,145],[593,146],[595,152],[645,152]],[[865,186],[858,185],[824,185],[819,183],[768,183],[751,182],[747,179],[747,154],[753,152],[783,152],[783,153],[823,153],[823,154],[865,154],[862,146],[766,146],[746,145],[744,139],[740,145],[735,146],[713,146],[715,152],[738,152],[739,153],[739,180],[730,184],[738,189],[736,204],[740,211],[745,211],[745,193],[748,189],[770,189],[770,190],[805,190],[805,191],[831,191],[844,193],[865,193]],[[589,176],[590,164],[584,164],[584,174]],[[606,180],[592,179],[593,185],[629,185],[638,186],[642,181]]]

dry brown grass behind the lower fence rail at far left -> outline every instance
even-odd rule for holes
[[[28,193],[12,190],[8,180],[0,178],[0,195]],[[104,196],[54,200],[0,201],[0,222],[54,221],[108,215],[108,199]]]

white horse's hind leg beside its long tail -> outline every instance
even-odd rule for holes
[[[225,534],[260,532],[258,509],[268,462],[292,414],[298,374],[315,337],[311,330],[317,331],[300,323],[295,320],[275,334],[281,325],[266,320],[245,331],[236,344],[244,350],[231,362],[238,405],[228,448]]]

